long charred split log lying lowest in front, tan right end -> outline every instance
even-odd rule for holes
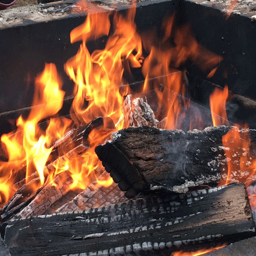
[[[244,184],[148,197],[80,212],[10,221],[13,256],[170,255],[204,243],[248,238],[254,223]]]

